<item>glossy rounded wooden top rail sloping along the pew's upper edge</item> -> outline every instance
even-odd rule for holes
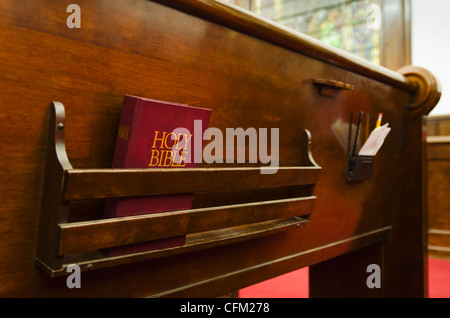
[[[312,56],[316,59],[320,59],[324,62],[339,66],[357,74],[362,74],[364,76],[380,80],[406,91],[414,92],[416,90],[416,87],[411,85],[406,78],[399,76],[398,73],[391,71],[388,68],[380,67],[343,50],[325,45],[324,43],[316,41],[299,32],[294,32],[288,28],[283,28],[279,24],[276,24],[268,19],[252,19],[255,15],[249,16],[248,12],[240,10],[237,7],[227,6],[226,3],[204,0],[156,1],[189,13],[193,13],[215,23],[220,23],[245,34],[264,39],[278,46],[294,50],[307,56]],[[398,14],[399,11],[402,11],[402,8],[398,5],[398,3],[394,5],[394,9],[396,10],[396,14]],[[386,11],[387,10],[388,8],[386,7]],[[398,23],[398,19],[389,19],[389,21],[392,23]],[[402,37],[404,35],[402,31],[397,29],[396,31],[397,32],[395,33],[399,34],[399,36]],[[405,52],[405,54],[407,53]],[[406,60],[403,61],[406,62]],[[400,64],[400,66],[403,65],[404,64]],[[396,67],[396,69],[398,68],[399,66]]]

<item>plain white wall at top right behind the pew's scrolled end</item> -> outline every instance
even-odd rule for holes
[[[450,1],[411,0],[411,5],[412,64],[426,68],[441,82],[441,100],[430,116],[449,115]]]

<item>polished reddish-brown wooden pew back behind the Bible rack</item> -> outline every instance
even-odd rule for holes
[[[408,108],[421,84],[222,2],[164,3],[80,0],[82,28],[69,29],[63,2],[0,2],[0,160],[7,167],[0,178],[8,181],[0,183],[0,295],[215,297],[378,243],[387,264],[382,270],[392,280],[392,292],[385,294],[399,295],[392,285],[408,283],[402,295],[423,295],[423,134],[420,109],[418,116]],[[320,96],[314,79],[354,89]],[[323,170],[308,226],[297,231],[291,222],[280,227],[292,230],[206,250],[193,247],[155,259],[135,255],[140,261],[133,263],[118,259],[115,267],[83,272],[81,289],[67,288],[65,277],[43,275],[34,255],[48,105],[56,100],[67,108],[67,154],[75,171],[97,170],[111,165],[124,94],[211,108],[210,125],[222,131],[280,128],[282,167],[302,161],[302,132],[310,130]],[[372,120],[382,112],[395,129],[375,159],[372,178],[349,183],[347,147],[333,127],[348,124],[350,112],[361,110]],[[292,191],[276,192],[285,198]],[[247,202],[245,194],[236,199],[218,192],[212,199],[200,193],[194,204]],[[266,196],[262,191],[252,199]],[[388,240],[389,234],[395,239]],[[403,242],[410,242],[408,248]]]

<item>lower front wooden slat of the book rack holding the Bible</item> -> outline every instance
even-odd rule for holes
[[[66,223],[61,255],[311,214],[316,197],[245,203],[144,216]]]

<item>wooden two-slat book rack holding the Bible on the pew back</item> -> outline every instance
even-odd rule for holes
[[[82,271],[256,238],[296,229],[309,222],[315,208],[319,167],[311,155],[311,135],[304,131],[299,166],[261,174],[260,167],[193,169],[74,169],[65,150],[65,112],[50,105],[46,170],[36,264],[51,277],[67,275],[70,264]],[[132,217],[68,222],[72,201],[186,192],[257,191],[305,186],[300,196],[277,200],[196,208]],[[187,235],[186,244],[149,252],[108,257],[102,249]]]

